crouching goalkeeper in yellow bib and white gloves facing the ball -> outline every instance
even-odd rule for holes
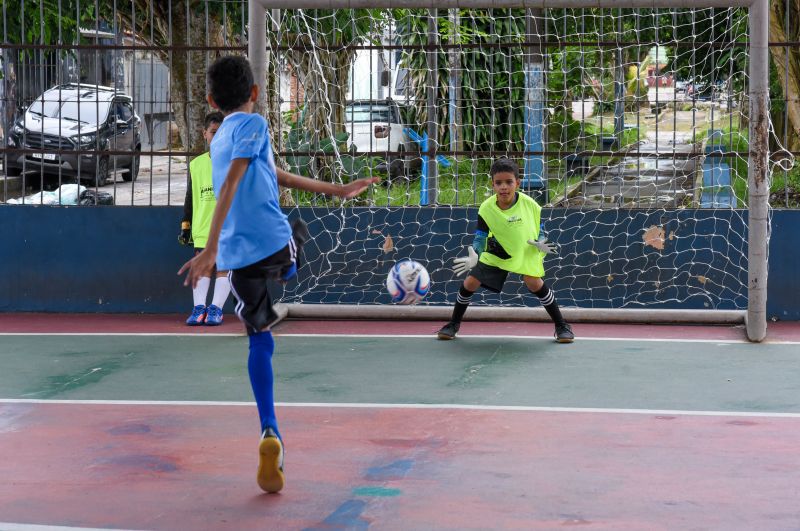
[[[467,248],[467,256],[454,260],[456,275],[469,275],[458,291],[453,317],[438,332],[439,339],[455,339],[464,312],[479,287],[500,293],[508,274],[517,273],[553,319],[556,341],[572,343],[572,328],[561,315],[552,290],[542,280],[545,255],[556,253],[555,246],[540,234],[542,207],[517,191],[519,166],[514,161],[498,159],[489,173],[495,193],[478,209],[475,240]]]

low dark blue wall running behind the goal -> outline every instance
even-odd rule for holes
[[[287,302],[388,303],[392,263],[411,257],[431,272],[426,302],[451,303],[452,259],[474,227],[472,208],[294,209],[314,236],[299,282],[276,287]],[[0,207],[0,311],[186,312],[191,293],[176,275],[191,250],[177,244],[180,207]],[[558,257],[547,280],[565,306],[742,309],[746,213],[730,210],[547,210]],[[645,243],[665,230],[664,249]],[[770,317],[800,320],[799,211],[775,211]],[[384,252],[386,236],[394,249]],[[513,276],[512,276],[513,278]],[[481,293],[476,302],[498,303]],[[514,279],[505,304],[537,303]]]

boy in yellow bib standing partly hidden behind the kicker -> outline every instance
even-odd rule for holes
[[[203,120],[203,138],[206,140],[206,145],[211,144],[211,140],[214,139],[224,118],[225,116],[219,111],[206,115]],[[178,235],[180,244],[194,245],[195,255],[200,254],[200,251],[206,246],[215,206],[217,206],[217,199],[214,197],[214,187],[211,182],[211,156],[206,151],[189,163],[189,182],[186,183],[181,233]],[[211,277],[207,276],[200,278],[197,286],[192,288],[194,307],[192,314],[186,319],[187,325],[217,326],[222,324],[222,308],[231,292],[228,272],[217,270],[214,281],[214,297],[211,304],[206,306],[210,287]]]

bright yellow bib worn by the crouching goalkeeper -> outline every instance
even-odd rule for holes
[[[496,194],[481,203],[478,215],[489,226],[489,236],[480,261],[511,273],[544,277],[545,255],[528,243],[539,238],[541,214],[542,207],[522,193],[507,210],[497,206]]]

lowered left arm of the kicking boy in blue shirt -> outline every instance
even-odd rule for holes
[[[222,231],[222,224],[228,216],[228,211],[231,209],[233,197],[236,195],[236,190],[239,189],[239,183],[242,180],[247,167],[250,165],[250,159],[233,159],[231,167],[228,170],[228,175],[225,177],[225,182],[222,183],[222,188],[219,190],[219,197],[217,197],[217,206],[214,208],[214,216],[211,218],[211,228],[208,231],[208,241],[203,252],[183,264],[179,275],[188,271],[186,280],[183,285],[191,285],[194,288],[200,277],[211,276],[211,271],[214,269],[214,264],[217,261],[217,246],[219,245],[219,233]]]

